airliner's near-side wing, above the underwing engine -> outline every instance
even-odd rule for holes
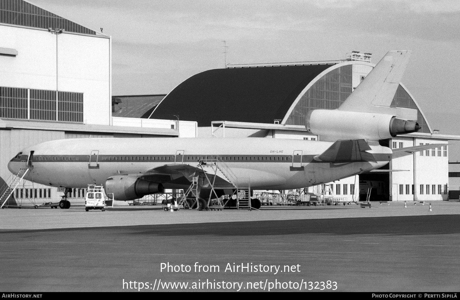
[[[233,188],[234,185],[226,178],[224,173],[216,167],[208,167],[202,169],[199,166],[192,166],[189,164],[167,164],[160,167],[144,172],[143,177],[151,181],[159,182],[158,179],[162,179],[161,183],[191,183],[194,177],[198,177],[198,184],[202,187],[207,187],[209,181],[214,182],[215,187],[219,188]],[[214,179],[215,177],[215,179]],[[208,179],[207,179],[208,178]],[[156,180],[155,180],[156,179]],[[186,179],[187,181],[185,181]]]

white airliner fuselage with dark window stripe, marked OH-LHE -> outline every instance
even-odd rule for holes
[[[332,164],[313,159],[331,146],[330,142],[241,138],[120,138],[62,139],[26,148],[8,164],[17,173],[33,166],[25,179],[55,187],[86,188],[104,184],[120,174],[143,176],[171,164],[198,166],[216,156],[251,189],[297,189],[328,183],[384,166],[391,150],[371,146],[376,162]],[[33,151],[32,159],[28,162]],[[167,175],[167,174],[166,174]],[[166,189],[183,189],[184,182],[162,182]]]

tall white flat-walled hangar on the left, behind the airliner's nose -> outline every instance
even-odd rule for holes
[[[196,136],[196,122],[112,116],[109,36],[27,1],[0,0],[0,37],[0,187],[11,178],[8,161],[32,144]],[[24,181],[8,204],[59,198],[56,188]]]

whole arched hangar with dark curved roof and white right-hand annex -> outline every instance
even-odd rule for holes
[[[336,109],[375,65],[371,54],[352,51],[344,60],[228,65],[198,73],[179,84],[150,118],[168,114],[198,122],[199,137],[266,137],[321,140],[306,132],[304,116],[314,109]],[[328,185],[329,193],[365,200],[447,200],[448,141],[429,125],[412,94],[399,84],[391,106],[418,111],[417,133],[381,140],[390,148],[445,144],[389,165]],[[319,193],[320,190],[311,188]],[[325,187],[320,187],[324,190]],[[364,199],[363,199],[364,198]]]

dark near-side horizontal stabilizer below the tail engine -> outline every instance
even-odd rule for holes
[[[364,139],[339,139],[321,155],[315,156],[316,161],[350,162],[375,161],[374,156],[366,151],[372,150]]]

